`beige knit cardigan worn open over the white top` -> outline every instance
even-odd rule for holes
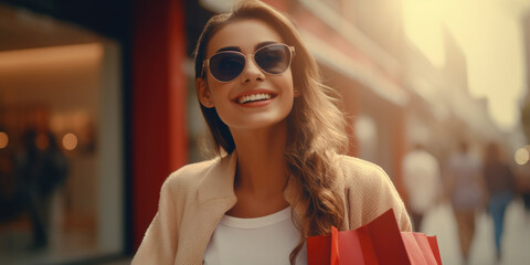
[[[333,188],[346,204],[344,224],[353,230],[394,209],[400,229],[411,231],[403,202],[386,173],[361,159],[337,156],[339,178]],[[235,205],[233,183],[236,155],[229,155],[174,171],[165,181],[155,215],[132,265],[202,264],[210,236],[224,213]],[[284,192],[293,202],[294,186]],[[304,209],[295,209],[298,216]]]

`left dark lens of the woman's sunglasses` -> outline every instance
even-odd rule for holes
[[[237,77],[245,67],[245,57],[242,54],[222,52],[210,59],[210,72],[222,82]]]

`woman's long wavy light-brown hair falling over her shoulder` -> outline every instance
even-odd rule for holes
[[[245,19],[257,19],[269,24],[296,51],[290,67],[294,87],[300,91],[300,96],[295,98],[287,116],[289,132],[285,158],[292,181],[298,188],[292,208],[301,204],[305,214],[296,222],[301,237],[289,256],[294,264],[306,236],[327,234],[331,225],[341,226],[343,222],[344,202],[331,187],[337,178],[337,171],[332,167],[333,155],[343,153],[348,148],[346,121],[336,105],[337,93],[322,85],[317,63],[294,24],[284,14],[257,0],[240,1],[232,12],[214,15],[208,21],[194,51],[195,78],[204,78],[201,74],[211,38],[224,25]],[[201,105],[201,110],[218,155],[221,151],[231,153],[235,144],[229,127],[221,120],[215,108]]]

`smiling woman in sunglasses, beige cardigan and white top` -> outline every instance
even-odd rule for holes
[[[306,264],[307,236],[390,208],[411,230],[381,168],[339,155],[343,116],[283,14],[242,1],[210,19],[195,77],[219,158],[166,180],[132,264]]]

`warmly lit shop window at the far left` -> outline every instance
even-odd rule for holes
[[[121,252],[119,46],[1,11],[12,38],[0,49],[0,264]]]

